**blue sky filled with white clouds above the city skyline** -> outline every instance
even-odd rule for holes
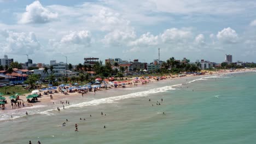
[[[256,62],[254,0],[0,0],[0,58]]]

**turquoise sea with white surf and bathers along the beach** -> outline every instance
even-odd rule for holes
[[[183,77],[63,98],[71,105],[61,112],[58,104],[1,111],[0,143],[255,143],[255,84],[255,72]]]

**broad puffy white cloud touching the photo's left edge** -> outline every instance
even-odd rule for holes
[[[30,33],[16,33],[5,31],[1,33],[5,37],[2,51],[14,54],[27,53],[32,54],[40,49],[40,43],[36,38],[36,34]]]

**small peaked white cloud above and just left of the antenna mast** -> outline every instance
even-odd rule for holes
[[[131,41],[131,46],[152,46],[158,44],[158,35],[154,36],[147,32],[146,34],[142,34],[138,39]]]

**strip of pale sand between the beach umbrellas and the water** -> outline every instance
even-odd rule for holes
[[[186,75],[186,76],[181,76],[181,77],[174,77],[172,78],[171,76],[166,76],[166,79],[164,80],[177,80],[177,79],[184,79],[185,77],[199,77],[199,76],[214,76],[214,75],[225,75],[225,74],[235,74],[235,73],[243,73],[243,72],[252,72],[252,71],[255,71],[255,69],[241,69],[241,70],[237,70],[237,71],[226,71],[226,70],[222,70],[222,71],[214,71],[214,73],[210,74],[210,73],[206,73],[206,74],[203,74],[203,75]],[[136,83],[137,86],[134,85],[134,82],[133,82],[133,79],[135,77],[132,77],[132,79],[129,79],[129,82],[132,82],[133,85],[130,87],[130,85],[126,85],[126,87],[128,88],[135,88],[135,87],[142,87],[144,86],[142,84],[142,82],[138,82]],[[146,84],[146,85],[150,85],[155,82],[158,82],[157,80],[155,79],[149,79],[150,81]],[[128,80],[127,80],[128,81]],[[159,80],[159,81],[162,81],[162,80]],[[126,82],[126,83],[129,83],[129,82]],[[146,86],[145,85],[145,86]],[[118,91],[120,91],[120,89],[123,89],[123,87],[112,87],[113,89],[118,89]],[[102,94],[104,91],[111,91],[112,88],[108,88],[108,89],[104,89],[104,88],[101,88],[101,90],[97,90],[96,93],[100,93]],[[39,92],[39,93],[43,93],[42,92]],[[82,93],[78,93],[78,92],[73,92],[73,93],[68,93],[68,95],[65,95],[61,92],[59,93],[53,93],[52,96],[53,96],[53,99],[50,99],[50,94],[48,95],[44,95],[42,94],[42,97],[39,97],[38,100],[40,102],[37,102],[37,103],[27,103],[27,95],[29,95],[30,93],[27,93],[25,95],[22,95],[20,97],[20,99],[22,99],[22,101],[24,101],[24,104],[25,104],[25,107],[21,106],[20,108],[17,108],[16,109],[11,109],[11,104],[10,104],[10,99],[7,98],[6,100],[8,101],[8,104],[5,104],[5,110],[1,110],[1,113],[5,113],[5,112],[10,112],[10,111],[16,111],[16,110],[19,110],[19,109],[24,109],[24,108],[27,108],[27,107],[33,107],[33,106],[38,106],[38,105],[50,105],[50,104],[53,104],[55,103],[55,105],[59,103],[59,101],[61,101],[62,99],[72,99],[73,97],[82,97]],[[95,94],[94,92],[88,92],[87,94],[84,94],[84,97],[93,97]],[[63,101],[65,104],[66,104],[66,101]]]

